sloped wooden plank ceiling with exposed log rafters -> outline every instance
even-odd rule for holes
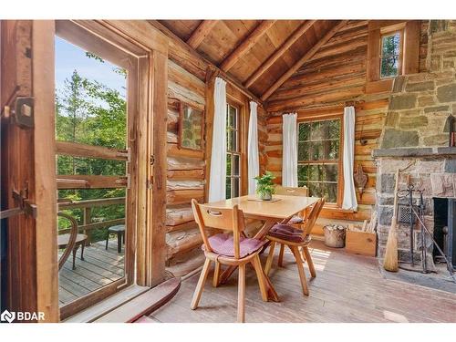
[[[347,20],[160,20],[174,35],[263,100],[320,50]]]

